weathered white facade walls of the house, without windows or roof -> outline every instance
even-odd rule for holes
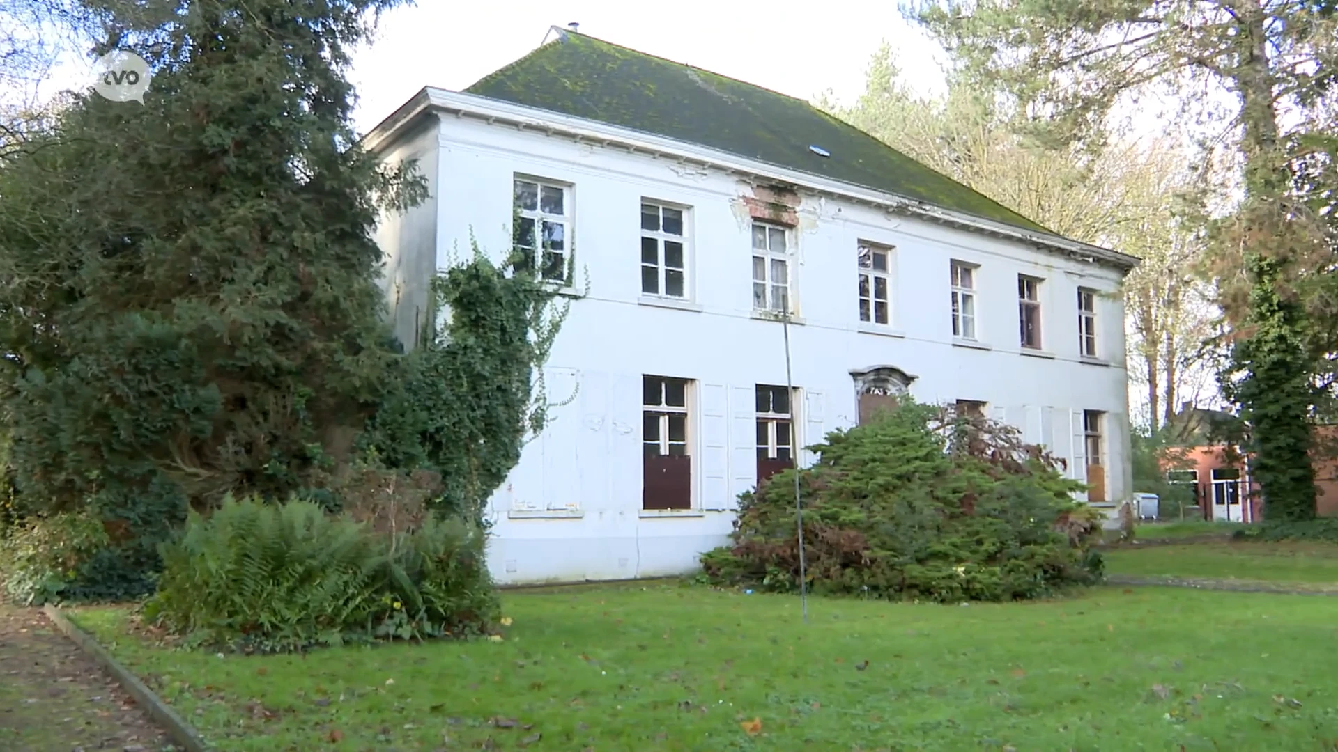
[[[500,582],[682,573],[725,542],[736,496],[756,483],[755,388],[787,383],[783,325],[753,304],[753,214],[759,206],[775,213],[777,203],[792,207],[780,218],[795,223],[777,227],[795,309],[788,331],[797,446],[852,426],[852,371],[883,367],[875,377],[909,380],[918,400],[985,403],[987,415],[1065,458],[1072,476],[1104,467],[1107,500],[1129,498],[1119,296],[1129,257],[442,90],[424,90],[367,143],[388,161],[419,159],[429,182],[428,202],[380,227],[396,331],[411,345],[435,268],[468,254],[471,236],[491,254],[510,249],[515,181],[562,191],[561,215],[551,218],[565,223],[574,292],[585,294],[573,300],[546,380],[551,401],[570,401],[554,409],[553,424],[492,498],[490,562]],[[557,195],[549,194],[550,210]],[[642,292],[648,202],[682,213],[684,300]],[[860,320],[862,244],[886,249],[890,261],[886,325]],[[974,296],[974,340],[954,337],[954,261],[974,270],[966,293]],[[1020,343],[1020,276],[1033,282],[1038,348]],[[1088,298],[1094,357],[1080,355],[1080,288],[1096,293]],[[690,508],[644,508],[646,375],[688,380]],[[1101,456],[1089,458],[1089,446]]]

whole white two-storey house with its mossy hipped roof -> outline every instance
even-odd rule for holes
[[[587,293],[546,368],[550,399],[574,399],[492,498],[500,582],[689,571],[759,474],[887,389],[973,403],[1064,458],[1093,503],[1129,498],[1119,292],[1136,260],[804,102],[554,28],[364,143],[429,182],[379,230],[407,344],[434,270],[471,236],[507,253],[514,210],[524,242],[543,229],[546,273]]]

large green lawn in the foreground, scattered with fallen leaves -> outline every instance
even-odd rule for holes
[[[504,605],[503,642],[306,657],[154,648],[115,609],[76,620],[223,751],[1263,752],[1338,740],[1329,598],[815,598],[808,625],[797,598],[677,585]]]

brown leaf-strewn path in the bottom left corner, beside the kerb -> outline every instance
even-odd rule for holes
[[[173,749],[96,661],[36,609],[0,603],[0,739],[15,752]]]

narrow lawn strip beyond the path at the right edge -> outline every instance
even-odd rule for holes
[[[1111,574],[1338,586],[1338,546],[1331,543],[1167,543],[1124,546],[1103,555]]]

